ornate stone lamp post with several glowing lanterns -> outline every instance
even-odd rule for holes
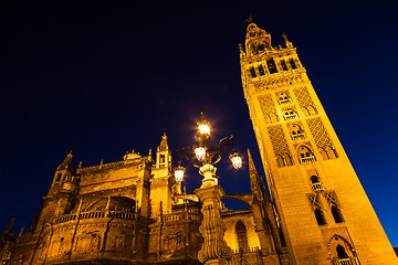
[[[210,144],[210,124],[201,115],[198,121],[198,144],[193,148],[186,147],[178,150],[181,159],[187,159],[199,168],[199,173],[203,176],[201,187],[195,193],[202,202],[203,221],[199,227],[205,237],[198,259],[206,265],[226,264],[232,257],[232,250],[223,240],[226,226],[221,220],[221,198],[224,191],[218,186],[217,168],[213,166],[221,160],[222,153],[228,149],[233,149],[232,136],[221,139],[217,145]],[[235,169],[242,167],[242,156],[233,152],[230,156],[232,166]],[[178,166],[175,169],[177,181],[182,180],[185,168]],[[177,177],[178,176],[178,177]],[[177,179],[179,178],[179,179]]]

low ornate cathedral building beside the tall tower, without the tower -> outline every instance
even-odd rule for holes
[[[250,157],[250,155],[249,155]],[[221,212],[230,264],[290,264],[265,187],[250,157],[251,194],[230,194],[251,205]],[[27,232],[8,237],[3,264],[200,264],[201,203],[181,192],[164,135],[155,153],[55,170],[51,188]],[[12,224],[4,234],[12,232]]]

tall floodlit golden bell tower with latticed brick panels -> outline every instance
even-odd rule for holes
[[[249,22],[240,45],[244,97],[294,264],[398,264],[301,64]]]

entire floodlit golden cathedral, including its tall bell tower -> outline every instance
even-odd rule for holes
[[[70,152],[31,226],[15,237],[13,218],[0,235],[1,264],[398,265],[296,49],[283,38],[284,47],[272,46],[250,21],[240,46],[266,186],[248,151],[251,193],[220,194],[249,208],[216,205],[212,216],[230,255],[217,263],[198,255],[208,205],[199,191],[181,190],[165,134],[154,153],[133,151],[111,163],[74,169]]]

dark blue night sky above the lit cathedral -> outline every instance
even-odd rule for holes
[[[250,13],[274,46],[286,33],[297,47],[398,246],[397,3],[381,1],[1,1],[0,230],[13,214],[17,234],[30,225],[70,150],[75,168],[113,162],[167,132],[175,151],[195,144],[202,109],[263,176],[240,80]],[[218,168],[226,192],[249,192],[247,163]],[[187,191],[200,180],[188,167]]]

